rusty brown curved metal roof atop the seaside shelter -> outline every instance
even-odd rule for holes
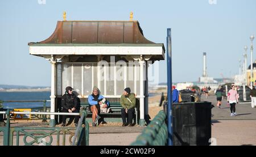
[[[138,21],[58,21],[53,34],[33,44],[154,44]]]

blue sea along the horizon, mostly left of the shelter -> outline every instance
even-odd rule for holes
[[[50,100],[49,96],[51,92],[0,92],[0,100],[2,101],[20,101],[20,100]],[[149,96],[154,96],[156,94],[150,93]],[[34,102],[34,103],[3,103],[4,109],[13,109],[13,108],[38,108],[43,107],[43,102]],[[46,102],[46,107],[51,107],[50,102]]]

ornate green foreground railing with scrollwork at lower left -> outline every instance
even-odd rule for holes
[[[80,120],[77,128],[72,127],[10,127],[10,114],[54,114],[54,115],[80,115]],[[87,113],[85,109],[81,109],[80,113],[35,113],[35,112],[0,112],[7,114],[6,126],[0,127],[0,133],[3,132],[3,145],[19,146],[19,145],[89,145],[89,124],[85,121]],[[68,139],[66,135],[69,135]],[[62,138],[61,138],[62,136]],[[22,139],[22,140],[20,140]],[[14,142],[16,141],[16,142]],[[1,144],[0,144],[1,145]]]

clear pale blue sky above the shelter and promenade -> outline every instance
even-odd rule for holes
[[[27,43],[47,39],[57,20],[63,20],[63,11],[67,20],[129,20],[133,11],[144,36],[164,45],[167,28],[172,28],[173,82],[198,80],[203,52],[207,52],[210,77],[221,78],[220,73],[231,77],[239,73],[238,61],[243,47],[250,45],[251,33],[256,35],[256,1],[216,2],[46,0],[40,5],[38,0],[0,1],[0,84],[51,85],[50,63],[29,55]],[[249,65],[249,51],[247,55]],[[166,82],[166,61],[160,62],[159,74],[160,82]]]

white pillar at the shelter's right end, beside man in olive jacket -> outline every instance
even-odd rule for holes
[[[141,57],[139,60],[139,72],[140,72],[140,79],[139,79],[139,84],[140,84],[140,96],[139,96],[139,125],[144,126],[145,120],[144,120],[144,66],[145,66],[145,61]]]

